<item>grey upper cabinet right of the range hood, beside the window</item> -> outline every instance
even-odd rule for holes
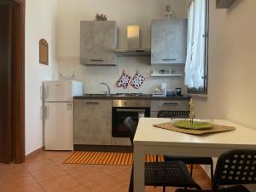
[[[152,20],[151,64],[184,64],[187,19]]]

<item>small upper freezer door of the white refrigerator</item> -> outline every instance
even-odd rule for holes
[[[73,81],[44,82],[44,102],[73,102]]]

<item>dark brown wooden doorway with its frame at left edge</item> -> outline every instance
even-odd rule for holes
[[[0,163],[25,161],[25,0],[0,3]]]

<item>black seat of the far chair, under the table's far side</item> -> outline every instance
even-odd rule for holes
[[[212,157],[164,156],[165,161],[181,160],[184,164],[213,165]]]

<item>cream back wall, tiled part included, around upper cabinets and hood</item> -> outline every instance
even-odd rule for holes
[[[78,74],[76,80],[84,82],[85,92],[100,92],[104,88],[98,84],[110,84],[112,92],[144,92],[151,93],[155,85],[166,82],[169,88],[182,87],[183,78],[152,79],[148,58],[119,58],[117,67],[85,67],[79,64],[80,20],[94,20],[96,12],[106,14],[108,20],[116,20],[119,26],[119,48],[126,48],[126,26],[139,25],[142,31],[142,44],[150,48],[150,23],[153,19],[164,17],[166,4],[171,4],[178,18],[187,17],[188,0],[61,0],[58,10],[58,58],[60,72],[71,75]],[[133,76],[137,68],[146,76],[146,82],[139,90],[129,88],[118,89],[115,83],[123,70]],[[161,66],[168,69],[170,67]],[[183,67],[174,67],[183,73]]]

